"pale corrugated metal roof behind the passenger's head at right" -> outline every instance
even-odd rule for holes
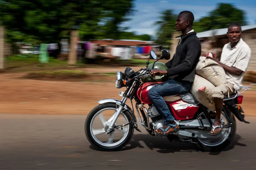
[[[256,25],[250,25],[250,26],[241,26],[242,31],[250,30],[256,28]],[[212,37],[212,36],[218,36],[218,35],[225,35],[227,34],[227,28],[221,28],[221,29],[212,29],[208,31],[203,31],[197,33],[198,38],[204,38],[204,37]]]

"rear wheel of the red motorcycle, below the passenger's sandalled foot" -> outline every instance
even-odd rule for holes
[[[234,139],[234,137],[236,135],[236,119],[227,108],[226,108],[226,111],[227,111],[227,115],[229,116],[229,119],[232,123],[232,127],[222,129],[221,133],[214,136],[214,138],[212,138],[212,136],[209,135],[209,131],[206,131],[205,133],[207,133],[207,134],[205,134],[205,136],[209,136],[209,139],[208,138],[198,138],[199,146],[203,150],[205,150],[205,151],[223,150]],[[203,113],[199,114],[199,116],[202,119],[206,119],[204,117]],[[223,126],[228,123],[227,117],[225,116],[223,111],[221,113],[221,122],[222,122]]]

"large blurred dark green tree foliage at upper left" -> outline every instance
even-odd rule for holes
[[[9,42],[58,42],[78,29],[81,39],[118,38],[133,0],[0,0]]]

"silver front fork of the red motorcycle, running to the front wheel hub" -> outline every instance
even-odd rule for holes
[[[119,108],[111,116],[111,118],[108,120],[108,122],[106,122],[106,123],[109,123],[108,130],[112,130],[113,126],[115,125],[116,120],[117,120],[119,114],[122,112],[122,109],[125,107],[125,102],[128,99],[127,96],[130,96],[131,91],[132,91],[132,89],[134,88],[135,85],[136,85],[136,81],[133,82],[133,84],[131,85],[131,87],[128,90],[127,94],[122,96],[122,100],[121,100],[121,104],[119,105]]]

